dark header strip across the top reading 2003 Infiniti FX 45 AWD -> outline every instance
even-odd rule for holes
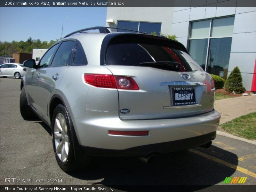
[[[255,0],[1,0],[0,7],[256,7]]]

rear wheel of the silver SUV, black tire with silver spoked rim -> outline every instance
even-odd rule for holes
[[[73,133],[75,133],[74,126],[67,108],[62,104],[57,105],[52,116],[52,145],[57,163],[65,172],[74,171],[82,168],[82,165],[88,164],[76,161],[74,154],[75,135]]]

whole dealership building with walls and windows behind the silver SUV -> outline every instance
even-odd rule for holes
[[[217,0],[200,7],[108,7],[106,26],[174,34],[205,71],[227,79],[238,66],[245,89],[256,91],[256,7],[236,7],[237,1],[230,7]]]

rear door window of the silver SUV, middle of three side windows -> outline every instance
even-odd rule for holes
[[[64,41],[57,50],[51,67],[60,67],[70,65],[72,49],[74,48],[74,41]]]

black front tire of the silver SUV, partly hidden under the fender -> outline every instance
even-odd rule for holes
[[[22,87],[20,92],[20,115],[25,119],[38,119],[36,114],[32,111],[31,107],[28,105],[28,100],[25,93],[25,88]]]

